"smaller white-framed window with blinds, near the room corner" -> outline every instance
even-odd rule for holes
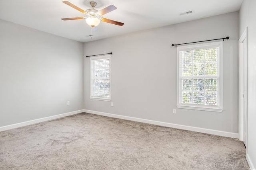
[[[90,58],[90,98],[110,101],[110,55]]]

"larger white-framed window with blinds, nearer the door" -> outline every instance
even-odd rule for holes
[[[177,107],[222,109],[222,41],[177,47]]]

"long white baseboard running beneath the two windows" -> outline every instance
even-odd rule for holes
[[[119,119],[138,121],[138,122],[142,122],[142,123],[150,123],[150,124],[153,124],[153,125],[173,127],[173,128],[177,128],[177,129],[183,129],[183,130],[188,130],[188,131],[196,131],[196,132],[200,132],[200,133],[208,133],[208,134],[212,134],[212,135],[219,135],[219,136],[231,137],[231,138],[238,139],[238,133],[231,133],[231,132],[217,131],[217,130],[212,130],[212,129],[204,129],[204,128],[200,128],[200,127],[178,125],[178,124],[173,124],[173,123],[166,123],[166,122],[161,122],[161,121],[154,121],[154,120],[141,119],[141,118],[136,118],[136,117],[116,115],[116,114],[104,113],[104,112],[100,112],[100,111],[92,111],[92,110],[86,110],[86,109],[84,109],[83,111],[86,112],[86,113],[92,113],[92,114],[96,114],[96,115],[103,115],[103,116],[107,116],[107,117],[114,117],[114,118],[119,118]]]

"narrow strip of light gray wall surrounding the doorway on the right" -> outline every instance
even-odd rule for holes
[[[248,27],[248,146],[247,159],[256,168],[256,1],[244,0],[240,9],[240,35]]]

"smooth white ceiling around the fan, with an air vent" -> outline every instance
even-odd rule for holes
[[[85,16],[62,3],[63,0],[0,0],[0,19],[59,35],[80,42],[92,41],[91,28],[85,20],[63,21],[60,18]],[[116,35],[152,29],[209,16],[235,12],[243,0],[68,0],[83,10],[90,1],[101,10],[109,5],[116,10],[104,18],[123,22],[118,26],[106,22],[94,31],[94,41]],[[180,13],[193,13],[180,16]]]

